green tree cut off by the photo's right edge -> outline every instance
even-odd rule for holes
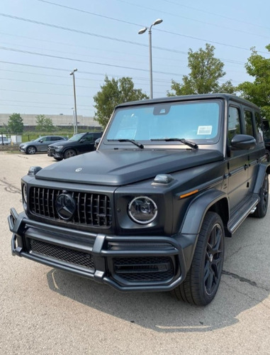
[[[266,45],[270,52],[270,44]],[[244,99],[248,99],[261,108],[262,115],[270,121],[270,59],[258,55],[255,48],[245,65],[247,74],[254,77],[253,82],[242,82],[237,90]]]

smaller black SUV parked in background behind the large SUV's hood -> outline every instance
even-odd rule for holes
[[[102,136],[102,132],[77,133],[68,141],[50,144],[47,155],[55,160],[70,158],[74,155],[94,151],[95,141]]]

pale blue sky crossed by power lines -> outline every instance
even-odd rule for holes
[[[94,116],[93,96],[105,75],[132,77],[149,95],[148,32],[152,27],[153,96],[189,73],[188,50],[215,46],[225,80],[248,77],[255,47],[269,58],[270,2],[265,0],[1,0],[0,113]]]

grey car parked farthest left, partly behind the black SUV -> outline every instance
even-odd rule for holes
[[[53,142],[66,141],[62,136],[43,136],[35,141],[21,143],[19,150],[26,154],[47,153],[47,146]]]

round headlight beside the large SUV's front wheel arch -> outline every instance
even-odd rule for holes
[[[157,217],[157,204],[147,196],[135,197],[128,204],[128,214],[136,223],[151,223]]]

